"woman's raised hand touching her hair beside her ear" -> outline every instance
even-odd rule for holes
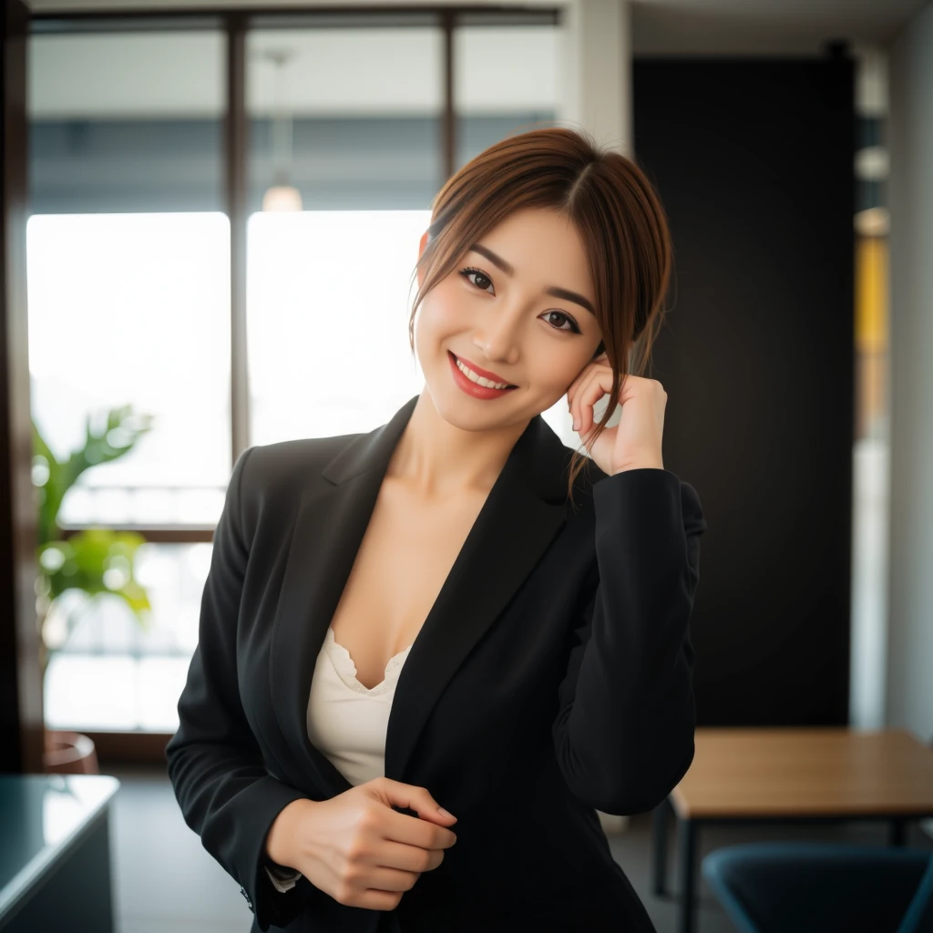
[[[596,427],[593,406],[612,389],[612,368],[606,359],[606,354],[597,356],[567,389],[567,407],[573,416],[574,430],[596,466],[608,476],[644,467],[663,469],[661,439],[667,393],[656,379],[626,376],[619,393],[622,405],[619,424],[606,427],[592,441]]]

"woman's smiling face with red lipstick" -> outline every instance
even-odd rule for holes
[[[425,233],[422,251],[426,243]],[[423,279],[419,272],[419,286]],[[481,430],[550,409],[602,340],[586,303],[595,307],[595,296],[571,221],[526,208],[481,236],[418,309],[415,352],[439,414]],[[457,371],[452,355],[515,388],[484,391]]]

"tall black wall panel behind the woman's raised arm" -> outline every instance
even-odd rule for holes
[[[634,144],[675,242],[646,373],[709,530],[698,724],[848,720],[854,66],[636,59]]]

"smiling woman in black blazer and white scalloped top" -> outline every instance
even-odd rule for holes
[[[654,929],[596,811],[693,758],[703,511],[628,371],[670,265],[632,161],[503,140],[421,241],[421,394],[237,460],[166,758],[254,933]],[[541,417],[564,396],[584,453]]]

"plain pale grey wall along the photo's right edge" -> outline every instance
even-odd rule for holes
[[[886,724],[933,740],[933,3],[889,49],[891,495]]]

